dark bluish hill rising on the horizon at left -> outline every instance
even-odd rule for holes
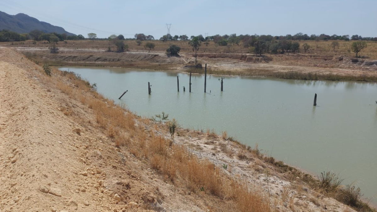
[[[19,13],[17,15],[9,15],[0,11],[0,30],[8,29],[18,33],[28,33],[34,29],[51,33],[57,32],[59,34],[75,35],[65,31],[60,26],[54,26],[46,22],[40,22],[37,18],[30,17],[29,15]]]

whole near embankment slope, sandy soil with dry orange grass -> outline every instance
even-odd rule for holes
[[[70,73],[0,58],[1,211],[354,211],[225,132],[172,140]]]

